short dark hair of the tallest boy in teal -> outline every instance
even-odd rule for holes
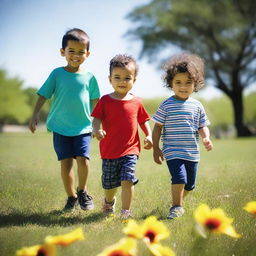
[[[87,51],[89,51],[90,38],[83,30],[79,28],[72,28],[68,30],[62,38],[62,49],[67,47],[69,40],[84,43],[86,45]]]

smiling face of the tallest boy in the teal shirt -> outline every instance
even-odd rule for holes
[[[69,40],[67,47],[60,49],[61,56],[66,58],[67,67],[70,70],[78,70],[80,65],[90,55],[90,52],[86,48],[86,45],[81,42]]]

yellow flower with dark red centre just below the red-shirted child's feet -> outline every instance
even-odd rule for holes
[[[141,232],[143,240],[149,243],[158,243],[170,235],[166,226],[155,216],[150,216],[144,221]]]

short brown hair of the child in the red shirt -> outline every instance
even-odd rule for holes
[[[118,54],[116,55],[114,58],[111,59],[110,61],[110,65],[109,65],[109,74],[111,75],[112,70],[114,68],[125,68],[126,66],[128,66],[129,64],[134,64],[135,67],[135,77],[138,74],[139,71],[139,67],[136,63],[136,60],[127,54]]]

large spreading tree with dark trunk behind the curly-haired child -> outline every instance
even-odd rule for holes
[[[149,60],[170,46],[202,56],[207,78],[232,101],[237,136],[250,136],[243,92],[256,80],[255,10],[255,0],[152,0],[128,14],[127,35]]]

